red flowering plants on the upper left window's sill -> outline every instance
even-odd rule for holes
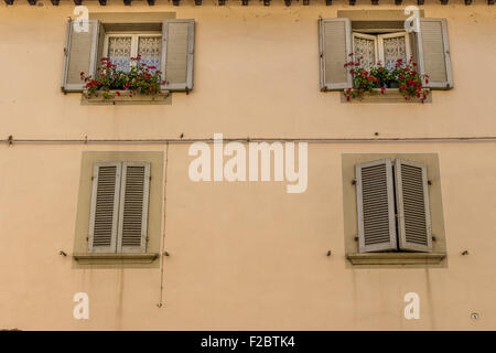
[[[160,86],[164,84],[161,72],[155,66],[141,63],[141,55],[131,57],[129,72],[117,69],[108,57],[101,57],[100,67],[97,68],[96,77],[86,76],[80,73],[80,79],[86,83],[84,95],[86,98],[101,96],[104,100],[116,99],[120,96],[160,94]]]

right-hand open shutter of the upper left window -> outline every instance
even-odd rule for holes
[[[193,89],[194,20],[166,20],[162,23],[162,89]]]

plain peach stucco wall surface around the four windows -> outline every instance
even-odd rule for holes
[[[0,7],[2,139],[496,136],[488,78],[496,76],[496,8],[478,1],[423,7],[425,17],[449,20],[455,85],[425,105],[347,105],[319,90],[316,20],[349,9],[343,1],[291,8],[88,1],[90,11],[194,18],[195,86],[169,106],[82,106],[80,95],[60,90],[73,6],[44,3]],[[194,183],[187,147],[170,145],[166,156],[163,248],[171,256],[163,266],[75,269],[58,252],[71,254],[74,245],[82,152],[166,147],[2,143],[0,329],[496,328],[494,141],[310,143],[302,194],[288,194],[284,182]],[[448,267],[346,266],[343,153],[438,153]],[[79,291],[90,298],[87,321],[73,319]],[[420,320],[403,318],[409,291],[420,295]]]

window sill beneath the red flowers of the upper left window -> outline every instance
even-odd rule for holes
[[[157,95],[136,94],[130,90],[118,90],[120,96],[115,94],[117,90],[110,90],[114,95],[110,99],[105,99],[100,94],[88,97],[86,92],[82,95],[82,105],[139,105],[139,104],[170,104],[171,94],[169,90],[161,90]]]

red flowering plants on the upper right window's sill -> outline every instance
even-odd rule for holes
[[[353,53],[349,54],[351,60],[344,66],[349,69],[353,75],[353,87],[345,89],[344,94],[346,100],[363,99],[366,94],[371,94],[380,88],[384,95],[387,88],[398,88],[399,94],[405,100],[418,98],[423,103],[427,98],[428,90],[422,86],[422,78],[417,72],[418,64],[413,58],[403,63],[402,58],[397,60],[395,68],[388,69],[380,63],[373,66],[370,71],[366,71],[362,66],[362,58],[354,61]],[[424,75],[425,83],[429,83],[427,75]]]

